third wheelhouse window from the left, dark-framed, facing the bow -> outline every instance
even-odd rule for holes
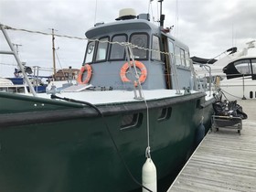
[[[126,35],[117,35],[112,37],[112,42],[126,42],[127,41],[127,36]],[[124,59],[124,46],[120,44],[112,44],[111,46],[111,56],[110,59]]]

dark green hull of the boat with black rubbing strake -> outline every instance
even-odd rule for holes
[[[103,119],[91,107],[63,101],[0,93],[0,103],[1,191],[129,191],[139,187],[121,158],[141,182],[147,147],[144,101],[98,106]],[[201,93],[148,101],[151,156],[158,179],[183,165],[195,149],[201,117],[207,124],[212,112],[211,104],[202,104]],[[125,127],[129,114],[139,115],[137,124]]]

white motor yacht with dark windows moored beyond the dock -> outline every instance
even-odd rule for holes
[[[213,82],[229,101],[256,99],[255,40],[246,43],[239,51],[237,48],[229,48],[223,53],[225,57],[218,60],[194,58],[197,76],[201,80]],[[209,64],[212,60],[214,62]],[[205,85],[208,87],[208,84]]]

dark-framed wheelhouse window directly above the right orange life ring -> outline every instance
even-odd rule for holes
[[[130,37],[130,42],[138,48],[133,48],[134,59],[147,59],[148,51],[148,35],[147,34],[133,34]]]

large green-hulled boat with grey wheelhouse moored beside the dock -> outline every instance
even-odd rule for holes
[[[197,91],[189,48],[164,18],[123,9],[86,32],[77,84],[0,92],[1,191],[132,191],[147,159],[158,181],[176,174],[208,132],[215,98]]]

